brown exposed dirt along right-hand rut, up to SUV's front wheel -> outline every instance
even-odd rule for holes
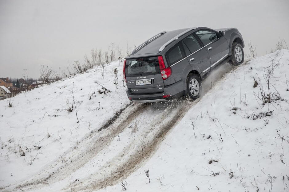
[[[248,61],[246,61],[244,64],[246,64]],[[203,93],[202,95],[206,94],[208,90],[212,88],[214,83],[216,81],[220,80],[223,75],[225,75],[227,72],[231,71],[233,67],[229,63],[223,63],[218,66],[212,73],[204,80],[202,83],[203,86]],[[196,103],[200,101],[199,99],[196,99],[195,101],[191,102],[184,98],[176,99],[172,102],[167,102],[165,104],[161,104],[159,106],[158,103],[153,104],[151,108],[158,108],[160,107],[161,110],[165,108],[169,108],[168,113],[158,114],[158,118],[160,118],[160,121],[155,123],[152,128],[158,129],[155,135],[153,135],[152,138],[149,138],[146,143],[142,143],[142,145],[135,150],[134,154],[130,156],[129,159],[125,163],[123,163],[121,166],[117,167],[116,171],[112,174],[102,178],[95,180],[90,183],[90,186],[87,187],[85,185],[81,186],[81,183],[74,185],[75,190],[99,190],[105,186],[112,186],[120,182],[122,179],[125,179],[130,174],[132,174],[135,170],[140,168],[143,163],[146,162],[149,157],[154,154],[159,146],[159,144],[163,141],[164,136],[171,130],[175,124],[184,117],[184,115],[187,113],[187,111]],[[153,115],[153,114],[152,114]],[[165,118],[164,118],[165,117]],[[153,118],[153,117],[149,117]],[[162,123],[162,121],[165,121],[165,123]],[[131,146],[127,148],[125,151],[130,151]],[[125,151],[121,156],[125,156]],[[79,186],[80,185],[80,186]],[[69,188],[66,188],[69,189]]]

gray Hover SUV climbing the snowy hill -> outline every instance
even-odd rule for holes
[[[223,60],[239,65],[244,42],[238,29],[193,27],[156,34],[125,58],[126,94],[135,102],[160,102],[179,95],[194,100],[201,81]]]

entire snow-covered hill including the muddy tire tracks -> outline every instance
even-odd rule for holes
[[[0,101],[2,189],[288,191],[288,50],[223,64],[194,102],[132,104],[121,65],[117,93],[109,65],[104,78],[94,69],[20,94],[11,108]],[[79,123],[75,107],[65,110],[73,84]]]

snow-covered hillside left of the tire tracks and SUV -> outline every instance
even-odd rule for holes
[[[118,69],[117,92],[113,67]],[[116,61],[104,68],[104,76],[102,70],[92,69],[35,88],[12,98],[10,108],[7,99],[0,101],[0,187],[45,170],[128,105],[122,67],[123,62]],[[98,90],[104,92],[102,86],[111,92],[100,94]]]

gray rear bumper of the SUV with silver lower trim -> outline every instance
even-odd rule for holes
[[[185,90],[184,85],[184,81],[180,80],[171,85],[164,86],[164,91],[160,93],[132,94],[129,89],[126,89],[126,94],[134,102],[161,102],[183,95]],[[164,95],[170,96],[163,98]]]

